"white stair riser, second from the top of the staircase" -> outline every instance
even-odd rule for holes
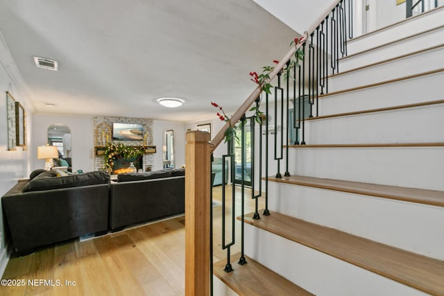
[[[363,67],[367,64],[381,62],[391,58],[399,57],[414,51],[428,49],[429,47],[443,44],[444,29],[432,31],[430,33],[420,35],[415,38],[403,40],[402,42],[395,42],[382,46],[372,51],[366,51],[357,55],[349,55],[339,61],[339,71],[348,71],[357,67]],[[442,63],[441,63],[442,64]]]

